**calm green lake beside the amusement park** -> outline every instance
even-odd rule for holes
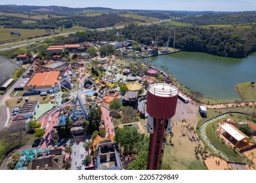
[[[177,52],[151,58],[158,69],[167,67],[184,86],[220,100],[240,99],[235,85],[256,81],[256,53],[247,58],[224,58],[198,52]]]

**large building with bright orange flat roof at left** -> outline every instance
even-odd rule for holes
[[[59,75],[60,71],[35,73],[23,87],[24,93],[49,92],[50,90],[59,91]]]

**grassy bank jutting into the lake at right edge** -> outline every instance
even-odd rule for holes
[[[236,84],[236,91],[245,101],[256,101],[256,84],[251,82]]]

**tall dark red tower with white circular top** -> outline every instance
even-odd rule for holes
[[[166,83],[148,87],[146,128],[150,133],[148,170],[159,170],[163,158],[166,136],[172,133],[171,117],[175,115],[179,90]]]

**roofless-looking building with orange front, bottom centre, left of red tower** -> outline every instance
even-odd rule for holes
[[[98,170],[122,170],[118,146],[110,134],[106,138],[97,136],[93,141],[95,168]]]

